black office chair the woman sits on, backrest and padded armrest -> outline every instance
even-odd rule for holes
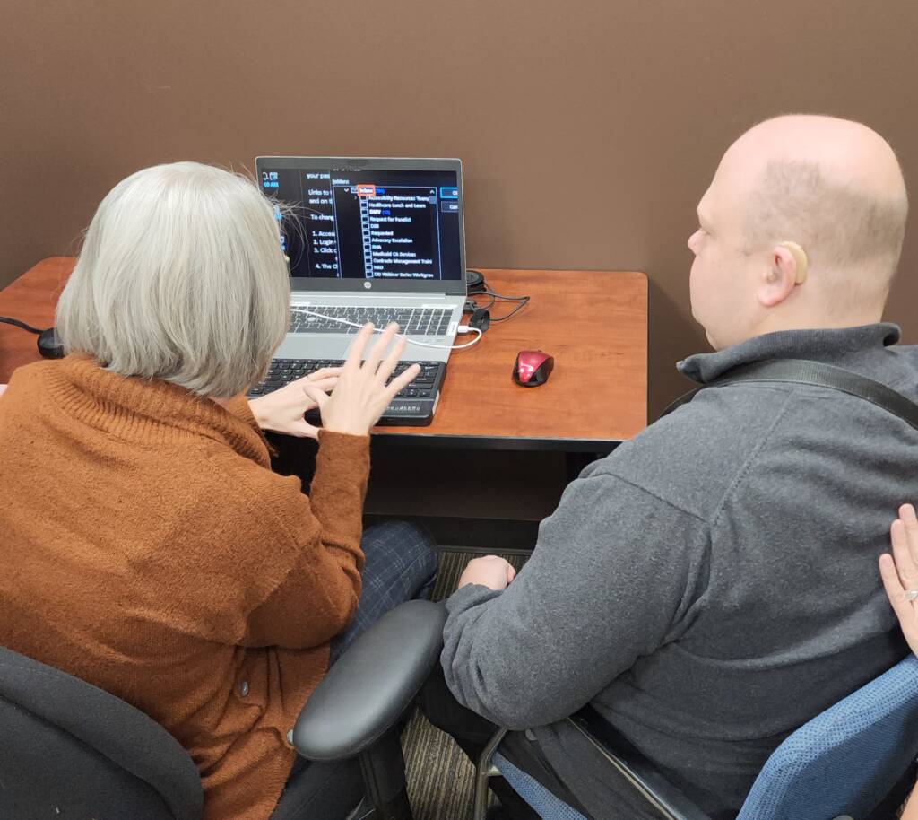
[[[411,820],[399,718],[442,645],[442,607],[388,612],[331,668],[294,730],[304,757],[359,757],[354,820]],[[0,647],[0,817],[200,820],[197,770],[161,725],[106,691]]]

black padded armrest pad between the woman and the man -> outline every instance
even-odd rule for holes
[[[414,701],[440,657],[446,612],[407,601],[386,612],[329,669],[299,713],[293,745],[309,760],[353,758]]]

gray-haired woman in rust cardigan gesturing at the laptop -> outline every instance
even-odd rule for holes
[[[287,732],[343,647],[436,567],[408,524],[362,533],[370,429],[417,375],[386,384],[395,326],[245,399],[284,338],[287,283],[249,180],[140,171],[99,206],[62,293],[67,355],[17,370],[0,404],[0,644],[164,725],[206,818],[267,818],[282,792],[303,816],[353,808],[353,764],[294,769]],[[318,437],[308,498],[271,471],[263,430]]]

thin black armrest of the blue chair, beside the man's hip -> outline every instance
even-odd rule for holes
[[[592,706],[568,720],[666,820],[711,820]]]

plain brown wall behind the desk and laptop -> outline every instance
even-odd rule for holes
[[[0,20],[0,285],[152,163],[457,156],[469,264],[650,275],[652,412],[705,347],[685,240],[740,132],[862,119],[918,173],[913,0],[0,0]],[[912,342],[916,228],[889,310]]]

